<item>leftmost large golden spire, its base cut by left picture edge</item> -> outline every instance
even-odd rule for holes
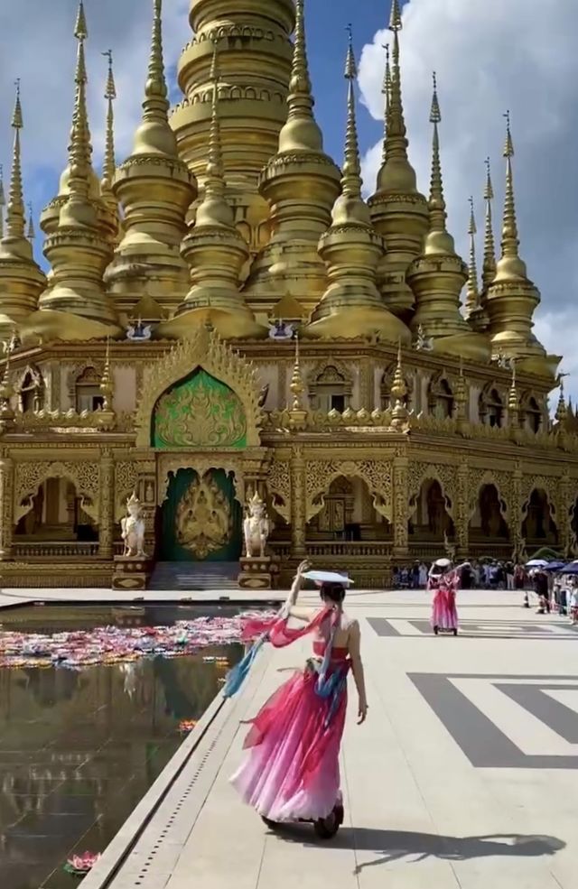
[[[39,294],[46,281],[44,274],[34,262],[33,247],[26,237],[20,144],[20,134],[23,129],[20,80],[16,80],[15,87],[16,97],[12,116],[14,129],[12,171],[5,231],[0,240],[0,339],[5,340],[10,338],[14,325],[19,324],[36,308]]]

